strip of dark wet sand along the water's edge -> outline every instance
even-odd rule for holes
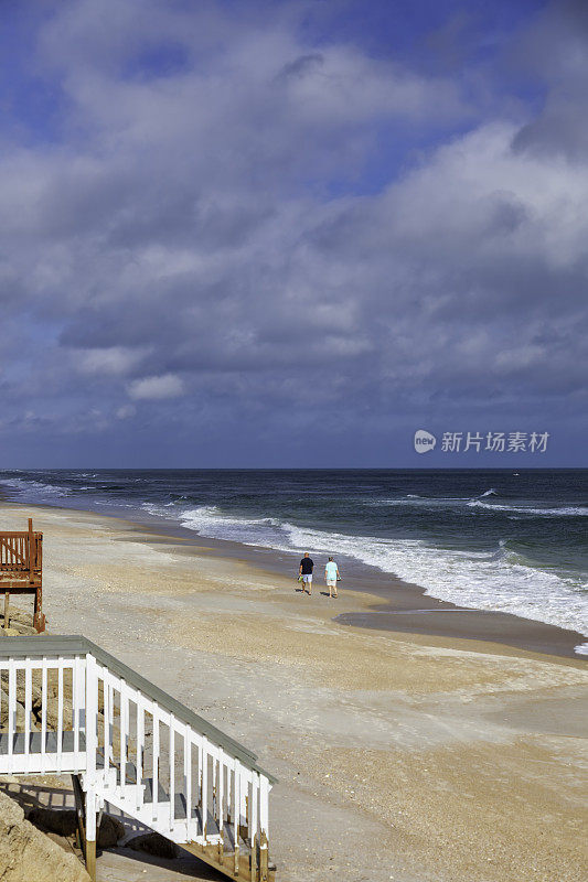
[[[164,520],[150,517],[121,517],[119,514],[94,512],[87,508],[52,505],[25,505],[10,499],[0,499],[0,505],[17,506],[20,508],[34,508],[39,510],[79,512],[96,517],[111,518],[126,526],[131,531],[151,535],[152,541],[175,541],[179,549],[193,547],[206,550],[218,559],[239,560],[263,571],[280,578],[290,578],[295,582],[295,572],[298,567],[299,555],[302,551],[278,551],[264,546],[244,545],[228,539],[215,539],[200,536],[193,530],[172,525]],[[343,557],[340,557],[343,560]],[[349,559],[348,559],[349,562]],[[586,644],[587,637],[581,632],[550,625],[534,619],[524,619],[520,615],[503,613],[498,610],[480,610],[477,607],[457,606],[455,603],[443,601],[427,594],[421,585],[406,582],[398,577],[378,570],[367,563],[357,566],[351,561],[352,572],[355,578],[344,579],[341,592],[372,596],[367,609],[362,603],[362,609],[356,611],[336,613],[333,621],[342,626],[354,626],[370,631],[389,632],[397,634],[413,634],[423,637],[447,638],[450,641],[472,641],[481,643],[495,643],[504,647],[523,649],[526,652],[557,655],[576,660],[586,659],[588,656],[575,650],[576,646]],[[320,577],[322,568],[316,567],[316,587],[324,589]],[[348,587],[352,581],[352,587]],[[360,600],[360,598],[359,598]]]

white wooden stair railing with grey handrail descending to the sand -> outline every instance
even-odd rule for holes
[[[0,642],[0,773],[70,773],[95,874],[105,803],[233,879],[265,882],[275,778],[255,754],[84,637]]]

